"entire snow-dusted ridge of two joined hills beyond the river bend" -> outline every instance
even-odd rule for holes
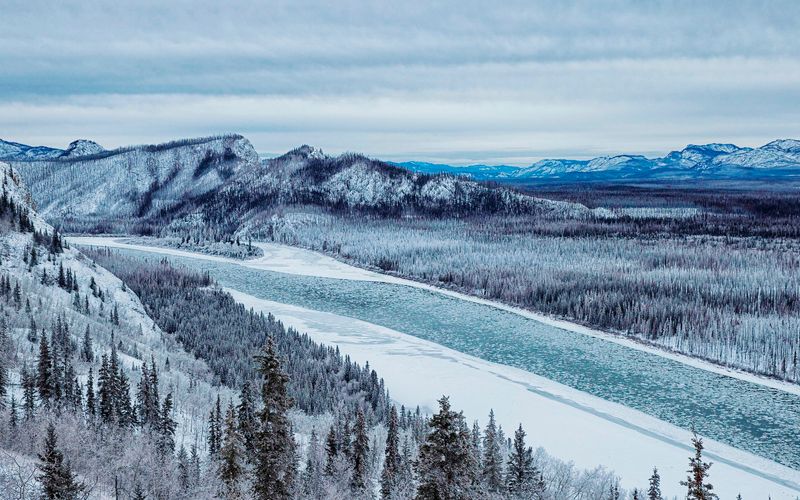
[[[354,153],[328,156],[311,146],[259,161],[240,135],[14,165],[42,215],[71,231],[150,233],[199,227],[232,234],[242,228],[257,230],[286,209],[377,216],[589,213],[583,205],[537,199],[447,174],[415,173]]]

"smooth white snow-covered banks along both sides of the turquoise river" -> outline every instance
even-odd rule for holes
[[[232,262],[284,273],[423,287],[525,314],[554,326],[575,331],[584,329],[586,331],[581,333],[630,344],[632,348],[658,352],[580,325],[544,316],[539,319],[540,315],[527,311],[358,269],[315,252],[283,245],[261,243],[263,257],[237,261],[170,248],[131,245],[116,238],[76,237],[70,238],[70,242]],[[684,492],[679,482],[685,478],[690,453],[690,435],[684,429],[524,370],[487,362],[389,328],[272,302],[237,290],[228,291],[247,307],[271,312],[288,326],[307,332],[314,340],[338,346],[355,361],[369,361],[385,379],[392,398],[398,403],[412,408],[420,405],[430,412],[436,408],[436,399],[448,394],[454,406],[464,410],[469,421],[479,419],[482,422],[493,408],[507,433],[522,423],[535,446],[542,446],[552,455],[571,460],[581,468],[604,464],[621,476],[626,488],[645,487],[652,467],[657,466],[666,494],[681,496]],[[789,384],[728,371],[691,358],[679,360],[737,378],[796,390]],[[734,498],[737,493],[744,498],[771,496],[774,499],[793,499],[800,495],[800,472],[712,440],[705,440],[705,444],[707,457],[714,462],[711,479],[722,498]]]

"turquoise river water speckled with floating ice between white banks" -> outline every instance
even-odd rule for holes
[[[171,260],[256,297],[358,318],[521,368],[800,468],[797,395],[419,288]]]

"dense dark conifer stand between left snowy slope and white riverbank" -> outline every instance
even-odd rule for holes
[[[298,408],[320,414],[337,411],[344,404],[355,414],[366,400],[367,421],[385,419],[388,399],[374,370],[286,329],[272,315],[246,310],[230,294],[210,289],[213,283],[208,275],[175,267],[166,260],[156,264],[102,250],[87,253],[122,278],[161,329],[205,360],[220,383],[242,387],[254,380],[256,374],[248,360],[271,336],[290,375],[289,393]],[[246,443],[251,441],[245,438]]]

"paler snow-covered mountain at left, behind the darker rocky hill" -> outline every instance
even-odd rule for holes
[[[111,151],[76,141],[63,156],[15,166],[44,217],[113,223],[146,218],[205,195],[241,169],[257,167],[258,155],[239,135]]]

